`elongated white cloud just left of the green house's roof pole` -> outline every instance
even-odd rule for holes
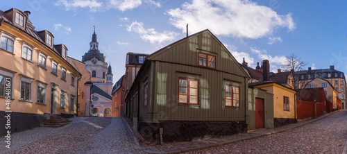
[[[142,40],[149,41],[151,44],[161,44],[162,42],[167,42],[174,40],[178,33],[171,31],[164,31],[163,33],[158,33],[154,28],[146,29],[142,22],[133,22],[128,28],[127,31],[138,33]]]

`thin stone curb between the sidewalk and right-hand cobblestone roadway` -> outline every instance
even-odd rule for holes
[[[235,139],[235,140],[232,140],[232,141],[228,141],[228,142],[221,142],[221,143],[218,143],[218,144],[210,144],[210,145],[205,145],[205,146],[198,146],[198,147],[194,147],[194,148],[185,148],[185,149],[181,149],[181,150],[178,150],[178,151],[167,151],[167,152],[162,152],[162,153],[168,153],[168,154],[176,154],[176,153],[187,153],[189,151],[198,151],[198,150],[203,150],[203,149],[206,149],[206,148],[212,148],[212,147],[216,147],[216,146],[224,146],[226,144],[233,144],[233,143],[236,143],[236,142],[242,142],[242,141],[246,141],[246,140],[249,140],[249,139],[255,139],[255,138],[258,138],[258,137],[264,137],[264,136],[267,136],[267,135],[273,135],[273,134],[276,134],[276,133],[281,133],[281,132],[285,132],[287,130],[291,130],[291,129],[294,129],[294,128],[298,128],[298,127],[301,127],[301,126],[305,126],[309,123],[313,123],[315,121],[319,121],[321,119],[324,119],[326,117],[329,117],[330,115],[332,114],[335,114],[337,112],[339,112],[341,110],[338,110],[338,111],[335,111],[335,112],[331,112],[330,114],[328,115],[325,115],[325,117],[321,116],[317,119],[314,119],[312,121],[309,121],[309,122],[306,122],[306,123],[303,123],[302,125],[298,125],[298,126],[294,126],[292,128],[287,128],[285,130],[278,130],[278,131],[274,131],[274,132],[269,132],[269,133],[264,133],[262,135],[256,135],[256,136],[253,136],[253,137],[246,137],[244,139]],[[305,122],[305,121],[301,121],[301,122]],[[347,142],[346,142],[346,145],[347,145]],[[346,151],[345,151],[345,148],[346,148]],[[347,146],[345,146],[344,148],[344,152],[347,152]],[[160,152],[157,152],[157,151],[145,151],[146,153],[160,153]]]

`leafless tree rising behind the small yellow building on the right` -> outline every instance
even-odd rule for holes
[[[298,74],[301,74],[301,71],[303,67],[307,65],[307,62],[304,62],[301,60],[301,58],[298,58],[298,55],[295,53],[291,53],[290,55],[286,56],[286,62],[284,65],[282,65],[282,69],[284,71],[291,71],[291,78],[289,78],[289,87],[296,90],[298,89],[299,85],[304,83],[305,80],[300,80],[300,77]]]

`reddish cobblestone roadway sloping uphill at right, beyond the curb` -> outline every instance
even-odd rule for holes
[[[282,133],[189,153],[342,153],[347,111]]]

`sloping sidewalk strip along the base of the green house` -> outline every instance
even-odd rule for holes
[[[317,117],[316,119],[309,119],[307,121],[292,123],[287,126],[282,126],[278,128],[261,129],[261,130],[255,130],[253,132],[248,132],[248,133],[243,133],[238,135],[230,135],[226,137],[218,137],[218,138],[212,138],[212,139],[201,139],[201,140],[193,141],[193,142],[169,142],[169,143],[164,143],[163,145],[157,145],[157,146],[141,146],[141,148],[142,148],[142,151],[146,153],[185,153],[189,151],[202,150],[202,149],[211,148],[214,146],[223,146],[226,144],[242,142],[244,140],[253,139],[256,137],[262,137],[262,136],[271,135],[271,134],[275,134],[279,132],[285,132],[286,130],[297,128],[297,127],[306,125],[308,123],[313,123],[314,121],[318,121],[319,119],[323,119],[325,117],[330,116],[331,114],[334,114],[340,111],[341,110],[338,110],[335,112],[324,114],[320,117]],[[133,133],[132,133],[132,136],[133,136]]]

